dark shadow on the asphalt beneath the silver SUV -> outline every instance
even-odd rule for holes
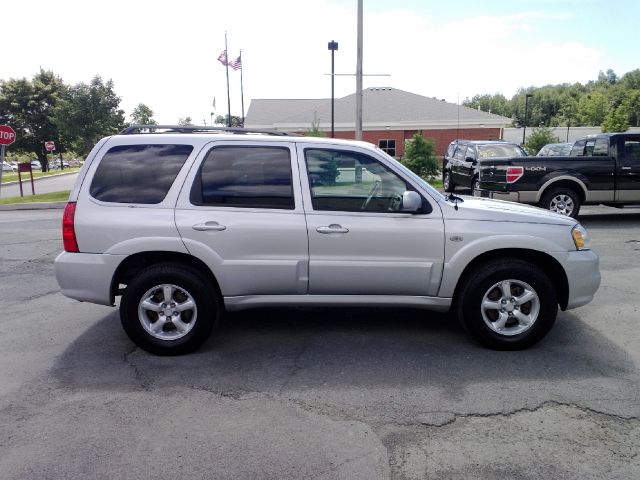
[[[573,313],[538,345],[487,350],[445,315],[396,309],[259,309],[230,313],[197,352],[158,357],[125,336],[117,312],[97,321],[52,367],[62,388],[191,387],[222,395],[286,389],[403,388],[635,376],[626,352]]]

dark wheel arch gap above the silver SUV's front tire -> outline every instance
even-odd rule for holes
[[[567,304],[569,302],[569,281],[562,265],[560,265],[555,258],[544,252],[519,248],[491,250],[478,255],[469,262],[462,271],[454,289],[454,308],[457,310],[457,299],[464,282],[477,268],[491,260],[504,260],[506,258],[524,260],[539,267],[553,284],[558,294],[558,304],[560,305],[560,308],[562,310],[567,308]]]

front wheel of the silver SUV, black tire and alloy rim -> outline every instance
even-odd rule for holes
[[[520,303],[503,302],[503,282],[508,284],[511,299],[521,299]],[[535,294],[526,302],[530,294],[524,287]],[[558,313],[549,278],[535,265],[518,259],[479,265],[464,280],[456,305],[459,319],[470,335],[494,350],[521,350],[537,343],[549,332]],[[520,318],[531,320],[530,324],[526,326]]]

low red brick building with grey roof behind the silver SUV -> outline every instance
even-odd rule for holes
[[[396,88],[367,88],[362,98],[362,139],[395,157],[416,132],[432,138],[438,155],[456,138],[492,140],[503,136],[511,119],[423,97]],[[335,99],[336,138],[355,138],[356,95]],[[247,128],[304,132],[316,123],[331,131],[331,99],[256,99],[245,119]]]

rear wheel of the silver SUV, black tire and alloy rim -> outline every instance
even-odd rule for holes
[[[145,298],[149,308],[143,307]],[[143,350],[182,355],[209,338],[220,317],[220,304],[215,287],[200,272],[163,263],[141,271],[129,282],[120,301],[120,321]]]

